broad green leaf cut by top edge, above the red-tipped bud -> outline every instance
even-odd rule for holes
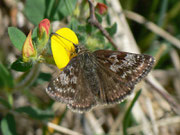
[[[45,0],[26,0],[25,15],[35,25],[45,17],[45,2]]]

